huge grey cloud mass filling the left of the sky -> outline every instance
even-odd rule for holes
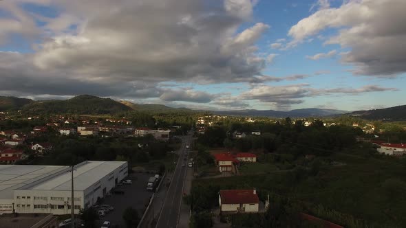
[[[19,5],[27,2],[58,8],[60,14],[34,15]],[[41,34],[42,39],[32,54],[1,54],[0,89],[28,95],[91,93],[175,100],[158,84],[267,80],[261,73],[267,56],[256,54],[255,43],[269,25],[240,27],[250,23],[255,3],[3,1],[0,10],[11,16],[0,21],[0,45],[12,34]],[[188,95],[195,95],[192,100],[197,102],[210,100],[191,91]]]

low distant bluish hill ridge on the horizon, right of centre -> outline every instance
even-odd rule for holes
[[[291,111],[275,111],[275,110],[255,110],[244,109],[235,111],[214,111],[220,115],[245,115],[245,116],[264,116],[264,117],[323,117],[330,115],[340,115],[346,111],[335,109],[294,109]]]

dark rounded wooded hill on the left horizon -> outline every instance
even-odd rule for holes
[[[114,114],[131,111],[129,106],[92,95],[78,95],[69,100],[36,101],[23,106],[23,113],[76,113],[76,114]]]

